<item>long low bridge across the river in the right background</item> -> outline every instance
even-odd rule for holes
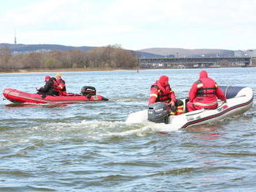
[[[255,61],[253,57],[152,57],[139,58],[139,65],[141,68],[252,67]]]

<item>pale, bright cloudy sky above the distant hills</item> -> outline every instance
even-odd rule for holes
[[[0,43],[256,49],[256,0],[0,0]]]

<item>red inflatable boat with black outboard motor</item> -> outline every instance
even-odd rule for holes
[[[3,95],[13,103],[33,103],[33,104],[72,104],[86,103],[88,101],[109,101],[109,99],[96,94],[95,87],[85,86],[81,89],[81,94],[67,94],[54,96],[47,94],[30,94],[12,88],[6,88]]]

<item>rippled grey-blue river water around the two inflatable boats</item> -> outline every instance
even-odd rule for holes
[[[207,69],[218,84],[256,90],[256,68]],[[107,102],[45,106],[0,101],[0,191],[255,191],[256,109],[212,125],[159,134],[127,125],[149,87],[170,77],[187,96],[198,69],[62,73],[67,91],[94,86]],[[35,92],[45,75],[0,74],[0,91]],[[1,96],[2,97],[2,96]]]

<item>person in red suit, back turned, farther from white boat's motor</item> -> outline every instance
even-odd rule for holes
[[[218,87],[216,81],[208,77],[206,70],[201,70],[199,80],[192,84],[189,91],[188,111],[202,108],[215,109],[218,107],[217,99],[227,101],[223,91]]]

